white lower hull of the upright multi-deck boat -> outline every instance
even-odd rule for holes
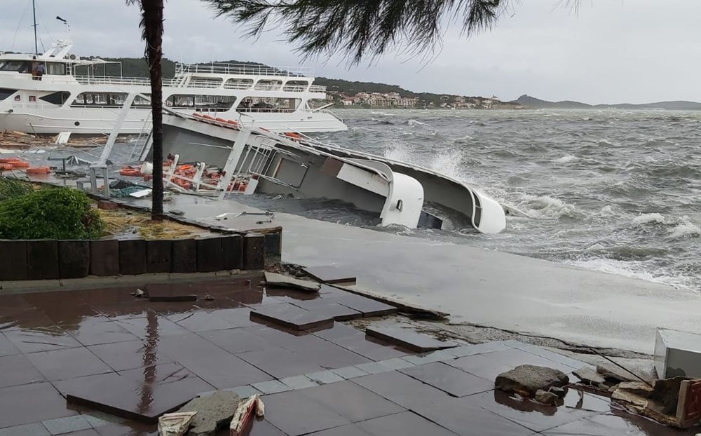
[[[29,106],[29,105],[27,105]],[[38,105],[39,106],[39,105]],[[119,109],[81,108],[22,108],[11,113],[0,112],[0,131],[18,131],[38,135],[72,132],[78,135],[109,135],[114,128]],[[181,111],[184,114],[191,111]],[[120,133],[137,135],[150,130],[150,110],[132,109]],[[232,114],[231,116],[238,116]],[[227,114],[221,115],[228,118]],[[273,132],[338,132],[346,130],[338,118],[326,112],[297,111],[292,113],[250,113],[234,118],[245,126],[264,127]]]

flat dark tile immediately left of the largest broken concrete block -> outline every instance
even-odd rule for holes
[[[442,362],[401,369],[400,372],[447,392],[454,397],[465,397],[465,395],[494,389],[494,382],[480,379],[460,369],[449,367]]]

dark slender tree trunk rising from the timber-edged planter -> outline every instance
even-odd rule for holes
[[[152,153],[154,191],[151,219],[163,219],[163,0],[142,0],[144,36],[151,76],[151,111],[154,123]]]

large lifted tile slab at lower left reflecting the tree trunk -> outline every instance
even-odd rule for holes
[[[173,411],[198,393],[212,390],[189,370],[175,363],[100,374],[55,383],[69,404],[144,423]]]

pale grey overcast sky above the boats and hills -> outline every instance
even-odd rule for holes
[[[0,0],[0,50],[32,51],[32,0]],[[423,58],[388,54],[349,68],[338,58],[308,60],[317,76],[392,83],[414,91],[529,94],[587,103],[701,101],[701,1],[583,0],[578,13],[562,0],[522,0],[491,31],[471,39],[447,28],[443,46]],[[48,47],[68,20],[79,55],[139,57],[139,9],[124,0],[36,0],[39,36]],[[41,45],[40,45],[41,50]],[[198,0],[165,6],[165,56],[185,62],[249,60],[297,65],[281,36],[258,41]]]

